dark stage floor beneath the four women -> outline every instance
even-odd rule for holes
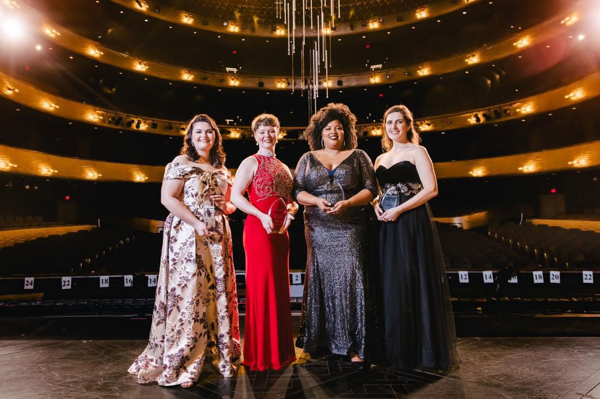
[[[459,338],[461,367],[446,376],[374,366],[355,371],[298,350],[299,360],[285,370],[241,367],[230,379],[203,373],[183,389],[137,385],[127,373],[146,340],[79,339],[60,322],[46,323],[38,333],[0,340],[0,398],[600,398],[598,337]]]

